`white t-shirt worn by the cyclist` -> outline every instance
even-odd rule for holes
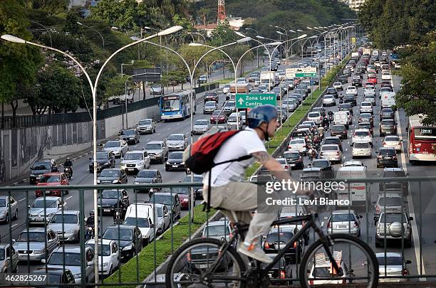
[[[219,149],[214,158],[215,163],[238,159],[255,152],[266,151],[264,142],[261,141],[254,129],[246,127],[238,134],[232,136]],[[254,158],[244,161],[234,161],[221,164],[212,168],[211,186],[223,186],[232,181],[244,181],[245,169],[254,163]],[[204,174],[203,183],[209,185],[209,172]]]

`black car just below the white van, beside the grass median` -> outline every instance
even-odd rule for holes
[[[142,250],[142,233],[136,226],[109,226],[103,233],[103,239],[117,242],[121,250],[121,260],[125,262]]]

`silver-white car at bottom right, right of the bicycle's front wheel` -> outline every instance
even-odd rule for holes
[[[398,278],[379,278],[378,282],[409,282],[410,279],[404,276],[409,275],[408,264],[412,261],[405,260],[401,252],[380,252],[375,253],[375,258],[378,262],[378,273],[380,277],[393,277]]]

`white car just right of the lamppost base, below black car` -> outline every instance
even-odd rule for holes
[[[94,249],[95,240],[90,239],[85,245]],[[98,240],[98,271],[100,273],[103,272],[103,275],[113,274],[121,265],[119,259],[120,248],[117,245],[117,241],[108,239]]]

